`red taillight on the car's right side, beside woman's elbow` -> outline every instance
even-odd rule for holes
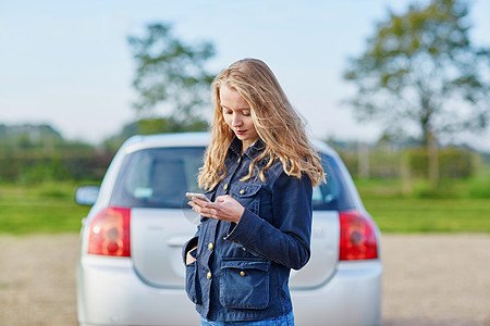
[[[378,258],[375,225],[358,211],[340,212],[339,260],[356,261]]]

